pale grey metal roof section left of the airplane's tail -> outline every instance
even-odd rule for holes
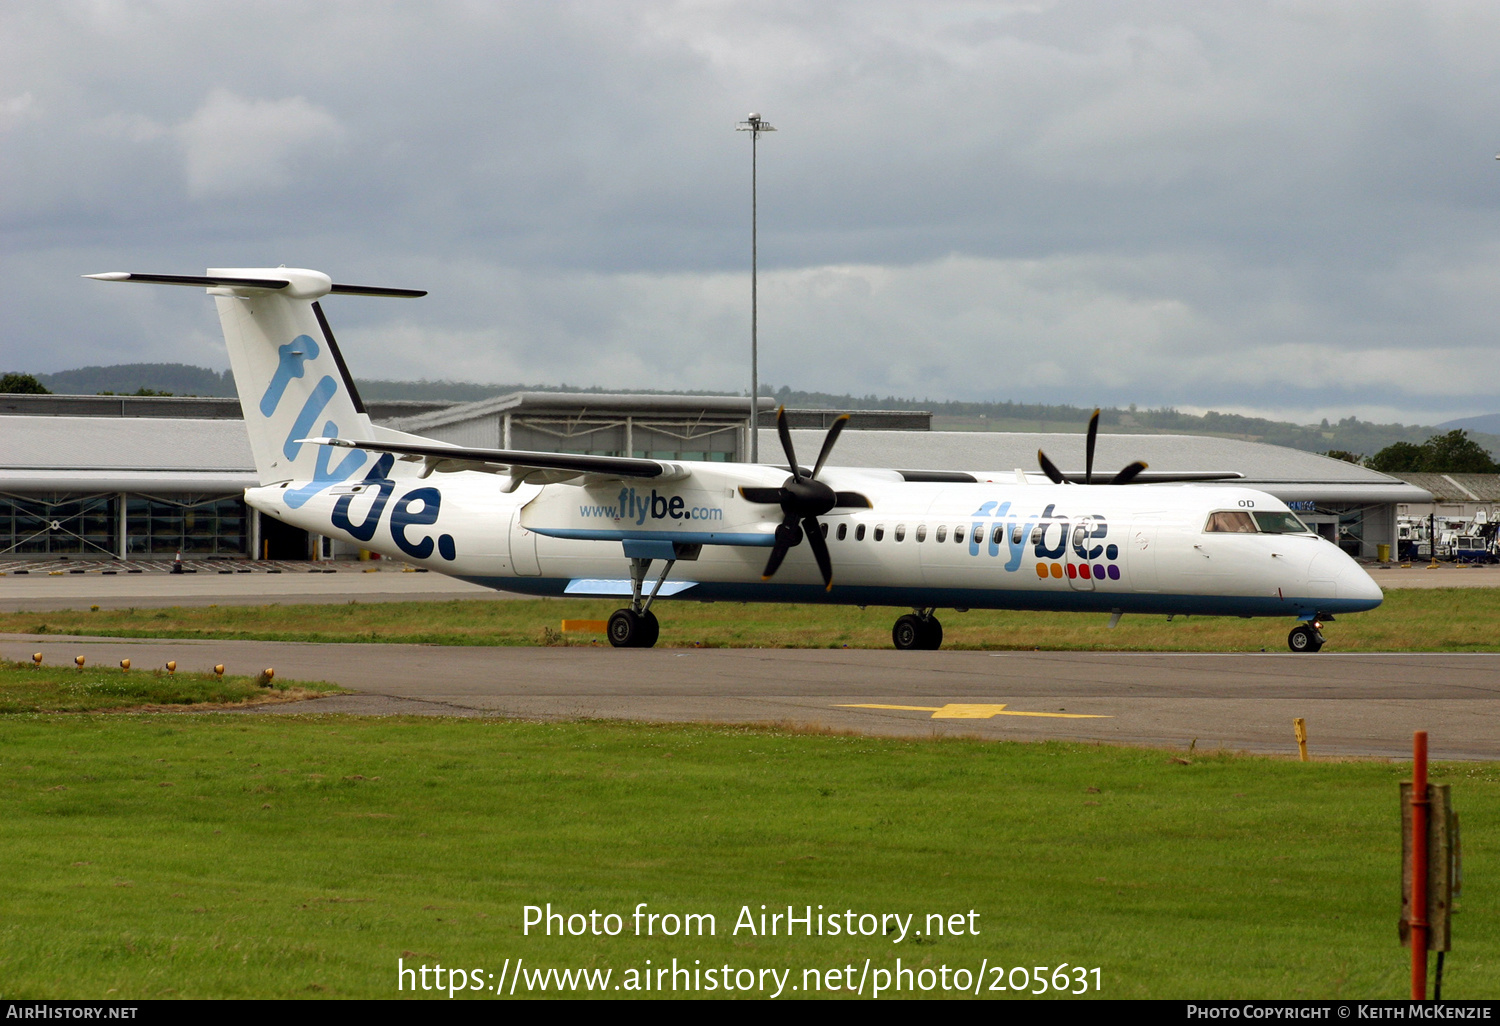
[[[255,472],[243,420],[0,417],[0,470]]]

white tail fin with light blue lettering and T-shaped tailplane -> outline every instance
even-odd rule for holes
[[[207,288],[219,309],[230,366],[261,484],[348,480],[370,454],[342,453],[303,438],[370,436],[333,332],[318,300],[332,294],[417,297],[416,290],[334,285],[314,270],[210,268],[196,274],[88,274],[104,280]],[[310,490],[309,490],[310,495]],[[288,494],[288,502],[298,506]],[[304,500],[303,500],[304,501]]]

